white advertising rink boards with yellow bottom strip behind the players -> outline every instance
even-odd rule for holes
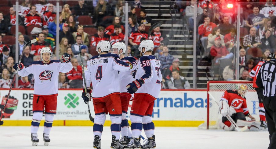
[[[9,90],[0,90],[1,102]],[[92,126],[89,121],[87,105],[82,100],[82,90],[59,90],[54,126]],[[13,113],[4,118],[5,126],[29,126],[32,118],[32,89],[13,89]],[[16,105],[17,102],[17,106]],[[10,104],[10,103],[8,103]],[[128,114],[132,102],[129,104]],[[91,114],[94,115],[93,103],[90,102]],[[249,109],[250,111],[250,109]],[[162,90],[155,100],[153,115],[155,126],[198,126],[206,120],[206,90]],[[254,115],[253,115],[254,116]],[[257,116],[255,116],[257,117]],[[111,124],[109,116],[104,126]]]

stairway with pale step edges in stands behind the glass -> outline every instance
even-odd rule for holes
[[[163,21],[164,24],[160,30],[162,36],[167,39],[163,42],[169,47],[170,54],[173,57],[180,59],[180,69],[183,76],[193,84],[193,37],[189,35],[187,28],[184,26],[183,17],[180,12],[174,10],[173,2],[169,0],[158,1],[140,0],[142,6],[147,11],[147,16],[150,16],[153,22]],[[159,11],[159,4],[160,11]],[[159,13],[159,16],[158,16]],[[161,14],[161,16],[160,16]],[[173,19],[172,19],[173,18]],[[173,27],[172,27],[173,21]],[[201,57],[198,56],[198,59]],[[208,73],[209,79],[212,80]],[[207,87],[206,66],[197,67],[197,88]]]

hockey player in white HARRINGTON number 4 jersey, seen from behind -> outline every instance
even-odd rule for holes
[[[122,149],[119,143],[122,123],[122,105],[120,99],[118,71],[129,71],[132,69],[130,62],[121,61],[117,54],[108,53],[111,48],[109,41],[101,40],[96,47],[98,56],[93,56],[87,61],[85,80],[87,87],[93,85],[94,118],[94,148],[101,148],[100,140],[103,132],[103,124],[106,114],[111,119],[112,143],[111,148]],[[84,102],[89,102],[90,96],[82,94]]]

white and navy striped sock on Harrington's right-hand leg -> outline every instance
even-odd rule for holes
[[[122,116],[110,116],[110,120],[111,120],[111,126],[110,126],[111,134],[113,136],[116,136],[115,140],[119,140],[121,135]]]

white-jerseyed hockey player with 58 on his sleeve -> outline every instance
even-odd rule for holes
[[[154,123],[151,115],[154,100],[157,99],[161,90],[162,75],[160,61],[152,55],[152,40],[143,40],[139,45],[141,57],[138,60],[138,68],[135,80],[128,84],[127,91],[134,94],[130,111],[130,121],[133,139],[129,142],[129,148],[154,148]],[[147,136],[144,145],[140,143],[142,127]]]

